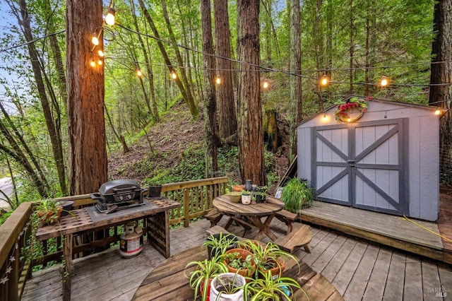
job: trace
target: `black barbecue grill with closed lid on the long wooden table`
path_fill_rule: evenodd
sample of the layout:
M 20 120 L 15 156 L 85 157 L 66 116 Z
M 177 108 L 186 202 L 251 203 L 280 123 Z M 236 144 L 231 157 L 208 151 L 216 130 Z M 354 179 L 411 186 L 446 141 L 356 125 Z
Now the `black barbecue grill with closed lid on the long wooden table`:
M 114 179 L 102 184 L 99 193 L 90 194 L 90 196 L 97 200 L 95 206 L 99 212 L 112 213 L 143 205 L 145 203 L 143 192 L 146 190 L 133 179 Z

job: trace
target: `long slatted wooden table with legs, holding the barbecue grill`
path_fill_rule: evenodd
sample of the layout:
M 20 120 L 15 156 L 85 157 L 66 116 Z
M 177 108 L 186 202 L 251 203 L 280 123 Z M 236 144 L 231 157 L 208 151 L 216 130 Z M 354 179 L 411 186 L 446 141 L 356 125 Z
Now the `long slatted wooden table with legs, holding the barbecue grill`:
M 170 256 L 169 210 L 181 205 L 165 197 L 145 198 L 144 201 L 143 206 L 126 208 L 109 214 L 99 213 L 94 206 L 73 210 L 71 214 L 61 217 L 59 223 L 37 229 L 37 240 L 64 236 L 63 255 L 68 275 L 64 281 L 64 300 L 69 300 L 71 296 L 73 235 L 95 232 L 146 218 L 148 241 L 166 258 Z

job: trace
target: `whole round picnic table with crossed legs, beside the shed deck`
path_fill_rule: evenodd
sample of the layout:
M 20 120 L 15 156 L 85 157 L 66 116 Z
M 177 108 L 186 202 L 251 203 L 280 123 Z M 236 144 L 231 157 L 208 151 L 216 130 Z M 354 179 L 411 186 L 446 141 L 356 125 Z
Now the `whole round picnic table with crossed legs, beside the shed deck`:
M 242 203 L 232 203 L 230 197 L 227 194 L 224 194 L 213 199 L 213 206 L 221 213 L 230 216 L 230 220 L 228 220 L 225 225 L 226 230 L 230 227 L 232 221 L 236 220 L 242 225 L 255 226 L 259 229 L 258 234 L 254 237 L 255 240 L 261 240 L 263 234 L 270 237 L 271 240 L 276 240 L 278 238 L 275 233 L 270 230 L 269 226 L 271 220 L 275 217 L 275 214 L 283 209 L 284 203 L 273 196 L 267 196 L 266 203 L 244 205 Z M 267 218 L 262 223 L 261 218 L 264 216 Z M 251 223 L 249 223 L 248 220 Z

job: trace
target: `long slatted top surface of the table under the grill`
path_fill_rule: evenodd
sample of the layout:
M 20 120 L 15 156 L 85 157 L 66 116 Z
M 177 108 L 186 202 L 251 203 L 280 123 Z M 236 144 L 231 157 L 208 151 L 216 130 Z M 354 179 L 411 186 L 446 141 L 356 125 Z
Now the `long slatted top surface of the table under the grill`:
M 58 223 L 52 225 L 45 225 L 36 231 L 37 240 L 47 240 L 52 237 L 59 237 L 60 235 L 73 234 L 85 230 L 93 230 L 105 226 L 114 226 L 121 223 L 126 223 L 131 220 L 150 216 L 154 213 L 167 211 L 172 208 L 180 207 L 181 204 L 172 199 L 167 199 L 164 196 L 156 198 L 144 198 L 147 206 L 132 207 L 130 209 L 119 210 L 114 213 L 101 213 L 106 218 L 93 221 L 93 218 L 88 214 L 87 208 L 81 208 L 71 211 L 67 216 L 62 216 Z

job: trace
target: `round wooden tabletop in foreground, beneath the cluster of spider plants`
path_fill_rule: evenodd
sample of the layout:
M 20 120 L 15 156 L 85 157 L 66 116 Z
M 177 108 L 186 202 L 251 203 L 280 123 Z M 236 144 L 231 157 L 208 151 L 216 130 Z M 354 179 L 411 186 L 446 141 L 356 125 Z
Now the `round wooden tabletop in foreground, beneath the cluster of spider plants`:
M 194 247 L 163 261 L 144 278 L 132 300 L 194 300 L 194 290 L 190 288 L 188 278 L 194 267 L 185 271 L 185 266 L 190 261 L 206 258 L 205 250 L 201 252 L 201 247 Z M 343 300 L 338 290 L 325 277 L 303 261 L 299 261 L 300 270 L 294 261 L 286 261 L 285 264 L 283 276 L 297 280 L 306 290 L 309 300 Z M 307 300 L 307 297 L 301 290 L 296 290 L 295 299 Z

